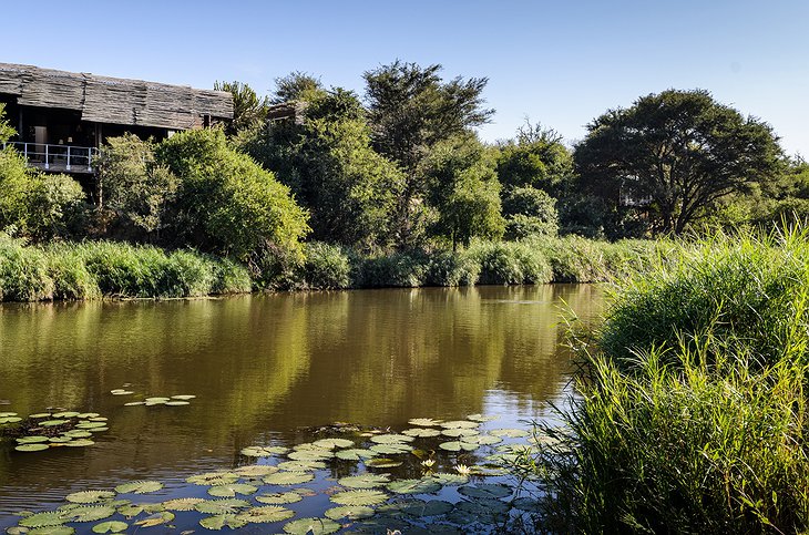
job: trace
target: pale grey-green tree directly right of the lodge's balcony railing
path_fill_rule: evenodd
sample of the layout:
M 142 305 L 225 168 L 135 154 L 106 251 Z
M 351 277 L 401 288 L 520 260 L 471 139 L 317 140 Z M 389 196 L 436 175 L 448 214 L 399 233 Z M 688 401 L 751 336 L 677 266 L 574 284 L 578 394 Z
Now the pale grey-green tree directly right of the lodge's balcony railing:
M 180 179 L 155 162 L 155 144 L 134 134 L 110 137 L 96 162 L 99 209 L 130 238 L 160 238 Z M 106 217 L 104 217 L 106 219 Z

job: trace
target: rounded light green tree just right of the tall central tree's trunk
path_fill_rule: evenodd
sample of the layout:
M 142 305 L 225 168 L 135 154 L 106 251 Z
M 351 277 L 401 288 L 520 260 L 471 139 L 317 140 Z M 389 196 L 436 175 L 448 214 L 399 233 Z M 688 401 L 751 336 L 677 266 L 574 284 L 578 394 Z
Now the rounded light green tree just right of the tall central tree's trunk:
M 436 210 L 432 230 L 449 239 L 452 250 L 473 237 L 503 235 L 500 183 L 494 163 L 473 135 L 438 144 L 426 163 L 429 206 Z

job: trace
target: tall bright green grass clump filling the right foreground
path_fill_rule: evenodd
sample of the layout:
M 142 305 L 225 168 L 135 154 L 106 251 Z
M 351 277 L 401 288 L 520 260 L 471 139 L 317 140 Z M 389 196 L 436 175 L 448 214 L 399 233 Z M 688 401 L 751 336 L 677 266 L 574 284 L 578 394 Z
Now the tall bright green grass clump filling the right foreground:
M 809 241 L 726 236 L 677 247 L 613 296 L 581 398 L 522 459 L 577 533 L 809 528 Z

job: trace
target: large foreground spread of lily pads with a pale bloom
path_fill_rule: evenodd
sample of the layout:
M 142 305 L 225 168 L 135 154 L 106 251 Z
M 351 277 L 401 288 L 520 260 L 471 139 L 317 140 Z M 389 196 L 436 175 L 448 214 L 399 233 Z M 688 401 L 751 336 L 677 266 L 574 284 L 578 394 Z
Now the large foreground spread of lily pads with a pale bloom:
M 94 533 L 190 527 L 190 521 L 206 529 L 277 523 L 287 534 L 498 531 L 539 511 L 536 488 L 506 484 L 503 465 L 540 444 L 525 430 L 481 430 L 488 420 L 413 419 L 398 433 L 350 428 L 293 447 L 249 446 L 240 453 L 257 464 L 187 477 L 187 497 L 156 502 L 163 484 L 151 481 L 76 492 L 55 511 L 25 514 L 9 533 L 70 535 L 68 524 L 99 521 Z M 300 486 L 306 484 L 319 491 Z M 306 500 L 319 494 L 331 506 Z M 134 495 L 151 496 L 136 503 Z M 295 518 L 314 511 L 318 516 Z

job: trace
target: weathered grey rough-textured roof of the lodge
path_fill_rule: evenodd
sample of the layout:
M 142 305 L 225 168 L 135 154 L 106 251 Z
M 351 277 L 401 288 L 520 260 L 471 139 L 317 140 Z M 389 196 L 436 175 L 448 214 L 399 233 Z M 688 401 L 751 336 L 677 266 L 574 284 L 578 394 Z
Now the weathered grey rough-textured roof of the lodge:
M 20 105 L 76 110 L 96 123 L 186 130 L 202 126 L 203 115 L 233 119 L 233 97 L 224 91 L 13 63 L 0 63 L 0 94 Z

